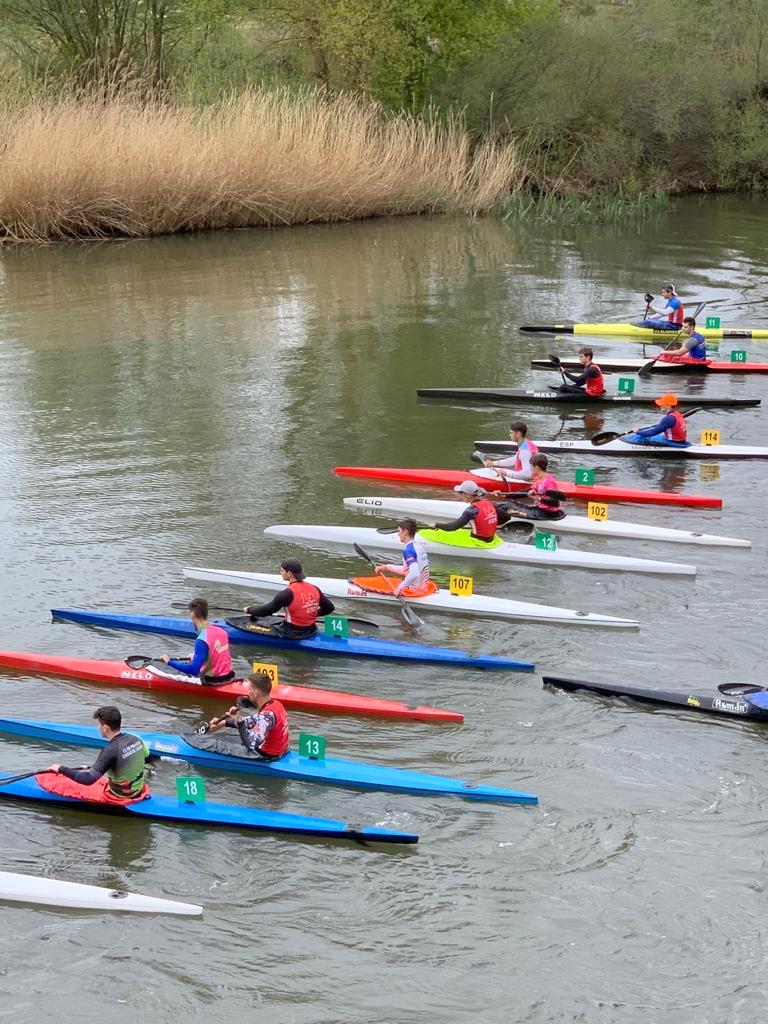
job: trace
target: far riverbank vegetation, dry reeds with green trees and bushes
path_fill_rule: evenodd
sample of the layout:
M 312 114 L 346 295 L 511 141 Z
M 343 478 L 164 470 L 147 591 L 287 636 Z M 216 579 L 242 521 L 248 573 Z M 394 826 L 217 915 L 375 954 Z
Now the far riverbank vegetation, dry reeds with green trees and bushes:
M 0 234 L 768 187 L 768 0 L 0 0 Z

